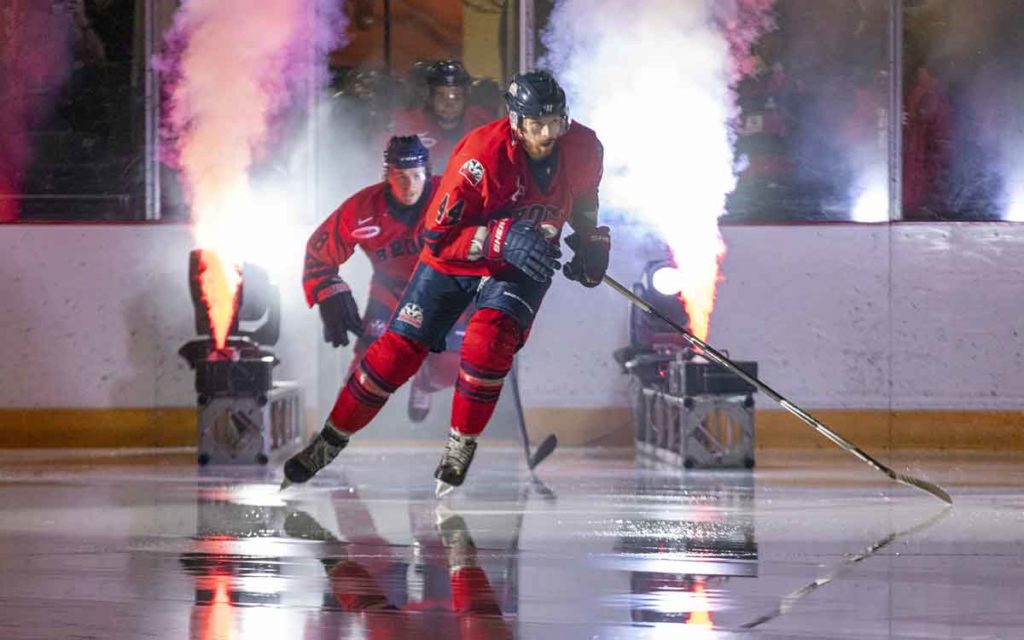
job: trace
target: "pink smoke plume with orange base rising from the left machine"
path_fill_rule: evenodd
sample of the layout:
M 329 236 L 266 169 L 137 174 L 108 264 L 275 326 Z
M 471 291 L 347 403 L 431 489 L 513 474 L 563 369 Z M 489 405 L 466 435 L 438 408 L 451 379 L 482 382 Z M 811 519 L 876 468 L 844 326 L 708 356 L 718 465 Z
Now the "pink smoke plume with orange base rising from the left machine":
M 247 215 L 250 168 L 282 121 L 323 86 L 327 54 L 344 38 L 338 0 L 186 0 L 175 14 L 158 61 L 164 159 L 181 171 L 197 245 L 226 264 L 239 261 L 241 239 L 258 224 Z M 234 299 L 237 278 L 222 280 L 226 289 L 204 291 L 205 299 Z

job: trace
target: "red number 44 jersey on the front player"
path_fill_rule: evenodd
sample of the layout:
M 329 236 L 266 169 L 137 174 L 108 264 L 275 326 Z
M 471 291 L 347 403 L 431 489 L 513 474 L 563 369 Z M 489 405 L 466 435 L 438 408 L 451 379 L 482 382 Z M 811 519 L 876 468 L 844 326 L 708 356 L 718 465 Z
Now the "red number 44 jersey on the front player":
M 476 227 L 525 217 L 560 233 L 578 205 L 597 206 L 604 152 L 592 130 L 573 122 L 558 139 L 547 190 L 536 183 L 520 146 L 507 118 L 463 138 L 427 208 L 424 262 L 442 273 L 486 275 L 493 265 L 467 259 Z

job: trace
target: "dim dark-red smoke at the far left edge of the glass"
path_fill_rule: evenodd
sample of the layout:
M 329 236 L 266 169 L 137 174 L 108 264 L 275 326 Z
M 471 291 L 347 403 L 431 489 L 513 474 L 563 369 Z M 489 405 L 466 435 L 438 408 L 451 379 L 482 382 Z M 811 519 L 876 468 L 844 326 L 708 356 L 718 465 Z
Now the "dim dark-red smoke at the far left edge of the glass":
M 0 222 L 17 219 L 29 134 L 49 115 L 71 62 L 71 15 L 38 0 L 0 7 Z

